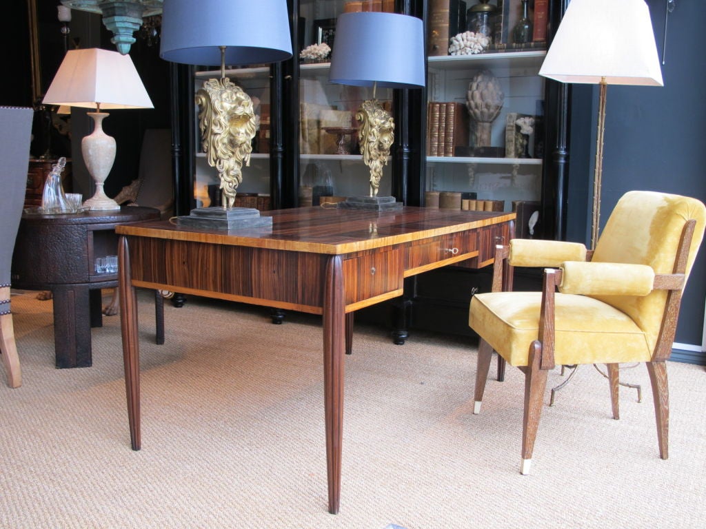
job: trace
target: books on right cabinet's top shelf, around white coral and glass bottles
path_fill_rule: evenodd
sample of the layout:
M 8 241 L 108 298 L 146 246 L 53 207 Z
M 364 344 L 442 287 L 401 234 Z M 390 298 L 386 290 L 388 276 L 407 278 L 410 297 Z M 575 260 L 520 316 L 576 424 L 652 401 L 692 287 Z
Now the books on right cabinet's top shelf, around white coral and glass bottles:
M 429 0 L 430 56 L 448 55 L 449 41 L 467 30 L 467 7 L 474 0 Z M 549 0 L 534 0 L 530 12 L 532 18 L 532 42 L 513 42 L 513 28 L 522 14 L 520 0 L 491 0 L 497 7 L 493 22 L 491 45 L 484 51 L 508 51 L 508 49 L 546 48 L 546 31 L 549 22 Z

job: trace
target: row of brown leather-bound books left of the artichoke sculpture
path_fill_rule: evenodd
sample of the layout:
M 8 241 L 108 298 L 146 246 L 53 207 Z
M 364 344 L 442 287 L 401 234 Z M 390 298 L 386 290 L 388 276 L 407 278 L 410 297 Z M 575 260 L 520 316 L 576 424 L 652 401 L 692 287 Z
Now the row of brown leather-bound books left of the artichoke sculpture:
M 469 115 L 463 103 L 429 102 L 426 123 L 428 156 L 453 156 L 456 147 L 469 143 Z

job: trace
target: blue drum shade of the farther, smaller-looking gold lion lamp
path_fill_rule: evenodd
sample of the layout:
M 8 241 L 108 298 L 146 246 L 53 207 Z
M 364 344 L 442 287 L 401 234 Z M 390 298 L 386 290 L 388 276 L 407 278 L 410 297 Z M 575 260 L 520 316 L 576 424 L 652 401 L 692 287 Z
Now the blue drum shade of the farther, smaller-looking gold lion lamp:
M 421 19 L 378 11 L 343 13 L 336 24 L 328 78 L 341 85 L 424 86 Z

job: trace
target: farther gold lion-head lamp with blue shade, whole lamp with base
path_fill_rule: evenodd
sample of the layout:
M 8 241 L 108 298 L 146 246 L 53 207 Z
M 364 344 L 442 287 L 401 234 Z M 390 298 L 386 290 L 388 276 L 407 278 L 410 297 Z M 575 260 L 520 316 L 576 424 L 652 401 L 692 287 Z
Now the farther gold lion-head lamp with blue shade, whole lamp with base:
M 363 162 L 370 168 L 370 195 L 348 197 L 338 207 L 388 211 L 401 209 L 395 197 L 378 197 L 383 167 L 395 140 L 395 123 L 375 97 L 376 88 L 424 86 L 424 31 L 421 19 L 397 13 L 343 13 L 336 24 L 331 83 L 373 87 L 356 119 Z

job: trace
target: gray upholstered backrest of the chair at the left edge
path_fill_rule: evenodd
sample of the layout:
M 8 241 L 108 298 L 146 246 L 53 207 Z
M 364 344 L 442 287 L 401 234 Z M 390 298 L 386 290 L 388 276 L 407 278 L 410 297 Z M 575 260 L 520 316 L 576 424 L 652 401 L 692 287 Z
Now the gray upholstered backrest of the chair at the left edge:
M 0 107 L 0 286 L 10 284 L 30 163 L 32 109 Z

